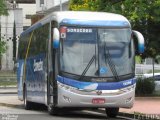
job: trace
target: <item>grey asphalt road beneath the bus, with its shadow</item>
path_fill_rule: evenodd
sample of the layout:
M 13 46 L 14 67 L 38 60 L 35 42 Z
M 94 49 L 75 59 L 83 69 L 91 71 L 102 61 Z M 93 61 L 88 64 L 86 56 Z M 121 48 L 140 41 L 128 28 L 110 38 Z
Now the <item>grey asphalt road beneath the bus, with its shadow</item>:
M 39 106 L 39 105 L 38 105 Z M 45 106 L 35 107 L 33 110 L 24 110 L 23 102 L 16 94 L 0 94 L 0 120 L 126 120 L 120 117 L 107 118 L 103 110 L 65 110 L 58 116 L 48 114 Z

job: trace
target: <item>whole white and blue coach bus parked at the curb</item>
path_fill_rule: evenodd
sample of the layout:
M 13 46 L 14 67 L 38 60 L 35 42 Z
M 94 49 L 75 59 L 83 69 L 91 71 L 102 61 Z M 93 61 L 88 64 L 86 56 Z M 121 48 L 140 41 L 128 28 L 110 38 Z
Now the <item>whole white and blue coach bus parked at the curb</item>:
M 135 54 L 143 52 L 142 34 L 122 15 L 53 12 L 20 36 L 18 97 L 25 109 L 105 108 L 115 117 L 133 106 Z

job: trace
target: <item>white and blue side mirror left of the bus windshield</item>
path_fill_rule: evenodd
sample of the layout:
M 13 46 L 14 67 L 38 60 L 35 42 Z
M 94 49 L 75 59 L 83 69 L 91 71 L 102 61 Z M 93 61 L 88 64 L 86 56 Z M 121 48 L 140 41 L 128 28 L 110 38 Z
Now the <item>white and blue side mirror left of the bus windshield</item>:
M 60 33 L 58 28 L 53 28 L 53 48 L 59 48 L 59 41 L 60 41 Z

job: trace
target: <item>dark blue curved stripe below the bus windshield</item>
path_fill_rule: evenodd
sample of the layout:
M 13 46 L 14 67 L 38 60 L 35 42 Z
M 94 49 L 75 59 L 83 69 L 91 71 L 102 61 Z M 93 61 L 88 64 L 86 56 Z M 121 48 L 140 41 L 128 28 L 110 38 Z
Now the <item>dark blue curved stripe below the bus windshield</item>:
M 92 89 L 92 90 L 116 90 L 125 88 L 130 85 L 134 85 L 136 83 L 136 79 L 129 79 L 120 82 L 81 82 L 70 78 L 65 78 L 62 76 L 58 76 L 57 80 L 60 83 L 78 88 L 78 89 Z

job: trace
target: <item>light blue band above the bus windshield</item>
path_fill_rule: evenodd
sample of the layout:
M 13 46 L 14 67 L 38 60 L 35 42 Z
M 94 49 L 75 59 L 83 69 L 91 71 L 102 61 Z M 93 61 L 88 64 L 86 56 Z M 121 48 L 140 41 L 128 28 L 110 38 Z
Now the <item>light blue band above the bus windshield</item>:
M 127 21 L 109 21 L 109 20 L 76 20 L 63 19 L 61 25 L 84 25 L 84 26 L 102 26 L 102 27 L 131 27 Z

